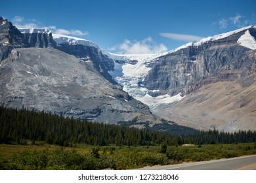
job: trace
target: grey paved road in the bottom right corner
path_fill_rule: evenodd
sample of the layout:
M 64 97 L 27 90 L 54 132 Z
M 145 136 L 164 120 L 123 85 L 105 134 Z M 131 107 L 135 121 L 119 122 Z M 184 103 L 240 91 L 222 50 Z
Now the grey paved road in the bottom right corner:
M 177 165 L 165 165 L 144 167 L 144 170 L 256 170 L 256 155 L 242 156 L 238 158 L 217 159 L 212 161 L 200 161 L 182 163 Z

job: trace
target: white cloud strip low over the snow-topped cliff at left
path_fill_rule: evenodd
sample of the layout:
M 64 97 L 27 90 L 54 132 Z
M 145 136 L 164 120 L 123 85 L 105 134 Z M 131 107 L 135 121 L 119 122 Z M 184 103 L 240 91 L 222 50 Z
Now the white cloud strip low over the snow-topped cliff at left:
M 35 28 L 36 27 L 36 28 L 49 29 L 52 31 L 52 33 L 56 33 L 60 35 L 85 36 L 89 34 L 89 32 L 87 31 L 80 31 L 78 29 L 60 29 L 55 25 L 43 26 L 40 22 L 38 22 L 35 19 L 26 20 L 22 16 L 14 16 L 14 18 L 12 18 L 12 24 L 18 28 L 32 28 L 32 27 Z

